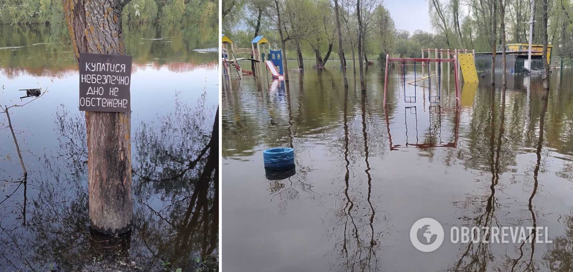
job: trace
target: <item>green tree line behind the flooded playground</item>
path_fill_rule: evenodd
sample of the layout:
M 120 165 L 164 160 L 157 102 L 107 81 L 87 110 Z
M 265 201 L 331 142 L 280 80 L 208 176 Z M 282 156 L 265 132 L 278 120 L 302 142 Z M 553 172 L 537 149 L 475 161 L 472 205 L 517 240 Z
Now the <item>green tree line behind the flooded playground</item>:
M 499 45 L 526 44 L 526 22 L 533 15 L 533 44 L 545 45 L 545 52 L 551 44 L 554 56 L 573 57 L 573 0 L 428 0 L 434 33 L 396 29 L 384 2 L 223 0 L 223 33 L 249 47 L 250 39 L 265 34 L 285 49 L 286 57 L 292 59 L 289 52 L 296 52 L 300 67 L 303 55 L 315 58 L 316 66 L 324 66 L 332 50 L 338 52 L 343 64 L 345 58 L 352 57 L 360 67 L 378 55 L 383 66 L 386 54 L 419 57 L 422 48 L 492 52 Z M 493 54 L 493 63 L 495 57 Z M 505 54 L 502 58 L 505 64 Z M 544 69 L 547 74 L 548 66 Z

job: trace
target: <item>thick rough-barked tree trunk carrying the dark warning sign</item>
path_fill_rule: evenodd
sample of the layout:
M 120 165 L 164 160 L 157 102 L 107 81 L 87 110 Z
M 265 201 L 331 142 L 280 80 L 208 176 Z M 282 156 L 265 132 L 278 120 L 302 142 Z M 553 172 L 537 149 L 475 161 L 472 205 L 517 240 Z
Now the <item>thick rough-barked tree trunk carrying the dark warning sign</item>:
M 119 0 L 63 0 L 76 60 L 80 53 L 125 54 Z M 131 112 L 85 112 L 89 219 L 119 234 L 131 227 Z M 105 129 L 103 129 L 105 128 Z

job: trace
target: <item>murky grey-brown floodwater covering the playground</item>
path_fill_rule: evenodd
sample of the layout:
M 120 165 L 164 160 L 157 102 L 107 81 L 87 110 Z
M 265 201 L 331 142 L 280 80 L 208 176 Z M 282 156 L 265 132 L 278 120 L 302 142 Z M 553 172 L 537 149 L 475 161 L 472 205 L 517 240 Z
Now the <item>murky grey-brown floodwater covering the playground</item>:
M 477 84 L 462 82 L 458 111 L 452 72 L 414 89 L 413 67 L 405 76 L 391 69 L 384 108 L 377 65 L 365 71 L 365 93 L 356 88 L 358 68 L 356 76 L 348 69 L 344 88 L 335 65 L 292 70 L 288 82 L 245 75 L 223 88 L 223 266 L 573 269 L 570 69 L 553 70 L 548 93 L 540 75 L 508 73 L 503 88 L 500 73 L 494 87 L 485 73 Z M 272 147 L 295 149 L 296 168 L 265 172 L 262 151 Z M 425 217 L 445 230 L 544 226 L 553 243 L 452 243 L 446 235 L 423 253 L 409 232 Z

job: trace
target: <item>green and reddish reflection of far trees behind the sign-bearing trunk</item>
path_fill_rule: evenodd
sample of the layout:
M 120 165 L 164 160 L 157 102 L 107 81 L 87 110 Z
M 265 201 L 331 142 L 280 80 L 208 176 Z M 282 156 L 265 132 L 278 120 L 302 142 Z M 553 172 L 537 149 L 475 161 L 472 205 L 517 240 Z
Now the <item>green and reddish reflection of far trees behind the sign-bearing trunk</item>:
M 165 66 L 172 72 L 188 72 L 216 68 L 217 54 L 194 51 L 216 48 L 216 32 L 208 24 L 193 27 L 148 24 L 127 25 L 123 35 L 127 54 L 134 56 L 134 70 Z M 0 70 L 9 78 L 21 74 L 62 78 L 76 73 L 77 63 L 68 34 L 55 39 L 50 35 L 50 27 L 45 25 L 0 27 Z

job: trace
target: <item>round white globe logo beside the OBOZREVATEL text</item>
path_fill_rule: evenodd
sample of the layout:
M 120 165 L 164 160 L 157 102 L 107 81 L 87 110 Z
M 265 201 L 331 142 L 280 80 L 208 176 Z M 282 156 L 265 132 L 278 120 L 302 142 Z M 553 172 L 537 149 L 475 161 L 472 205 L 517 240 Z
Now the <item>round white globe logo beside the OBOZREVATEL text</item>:
M 419 219 L 410 228 L 410 241 L 419 251 L 437 250 L 444 242 L 444 228 L 433 218 Z

